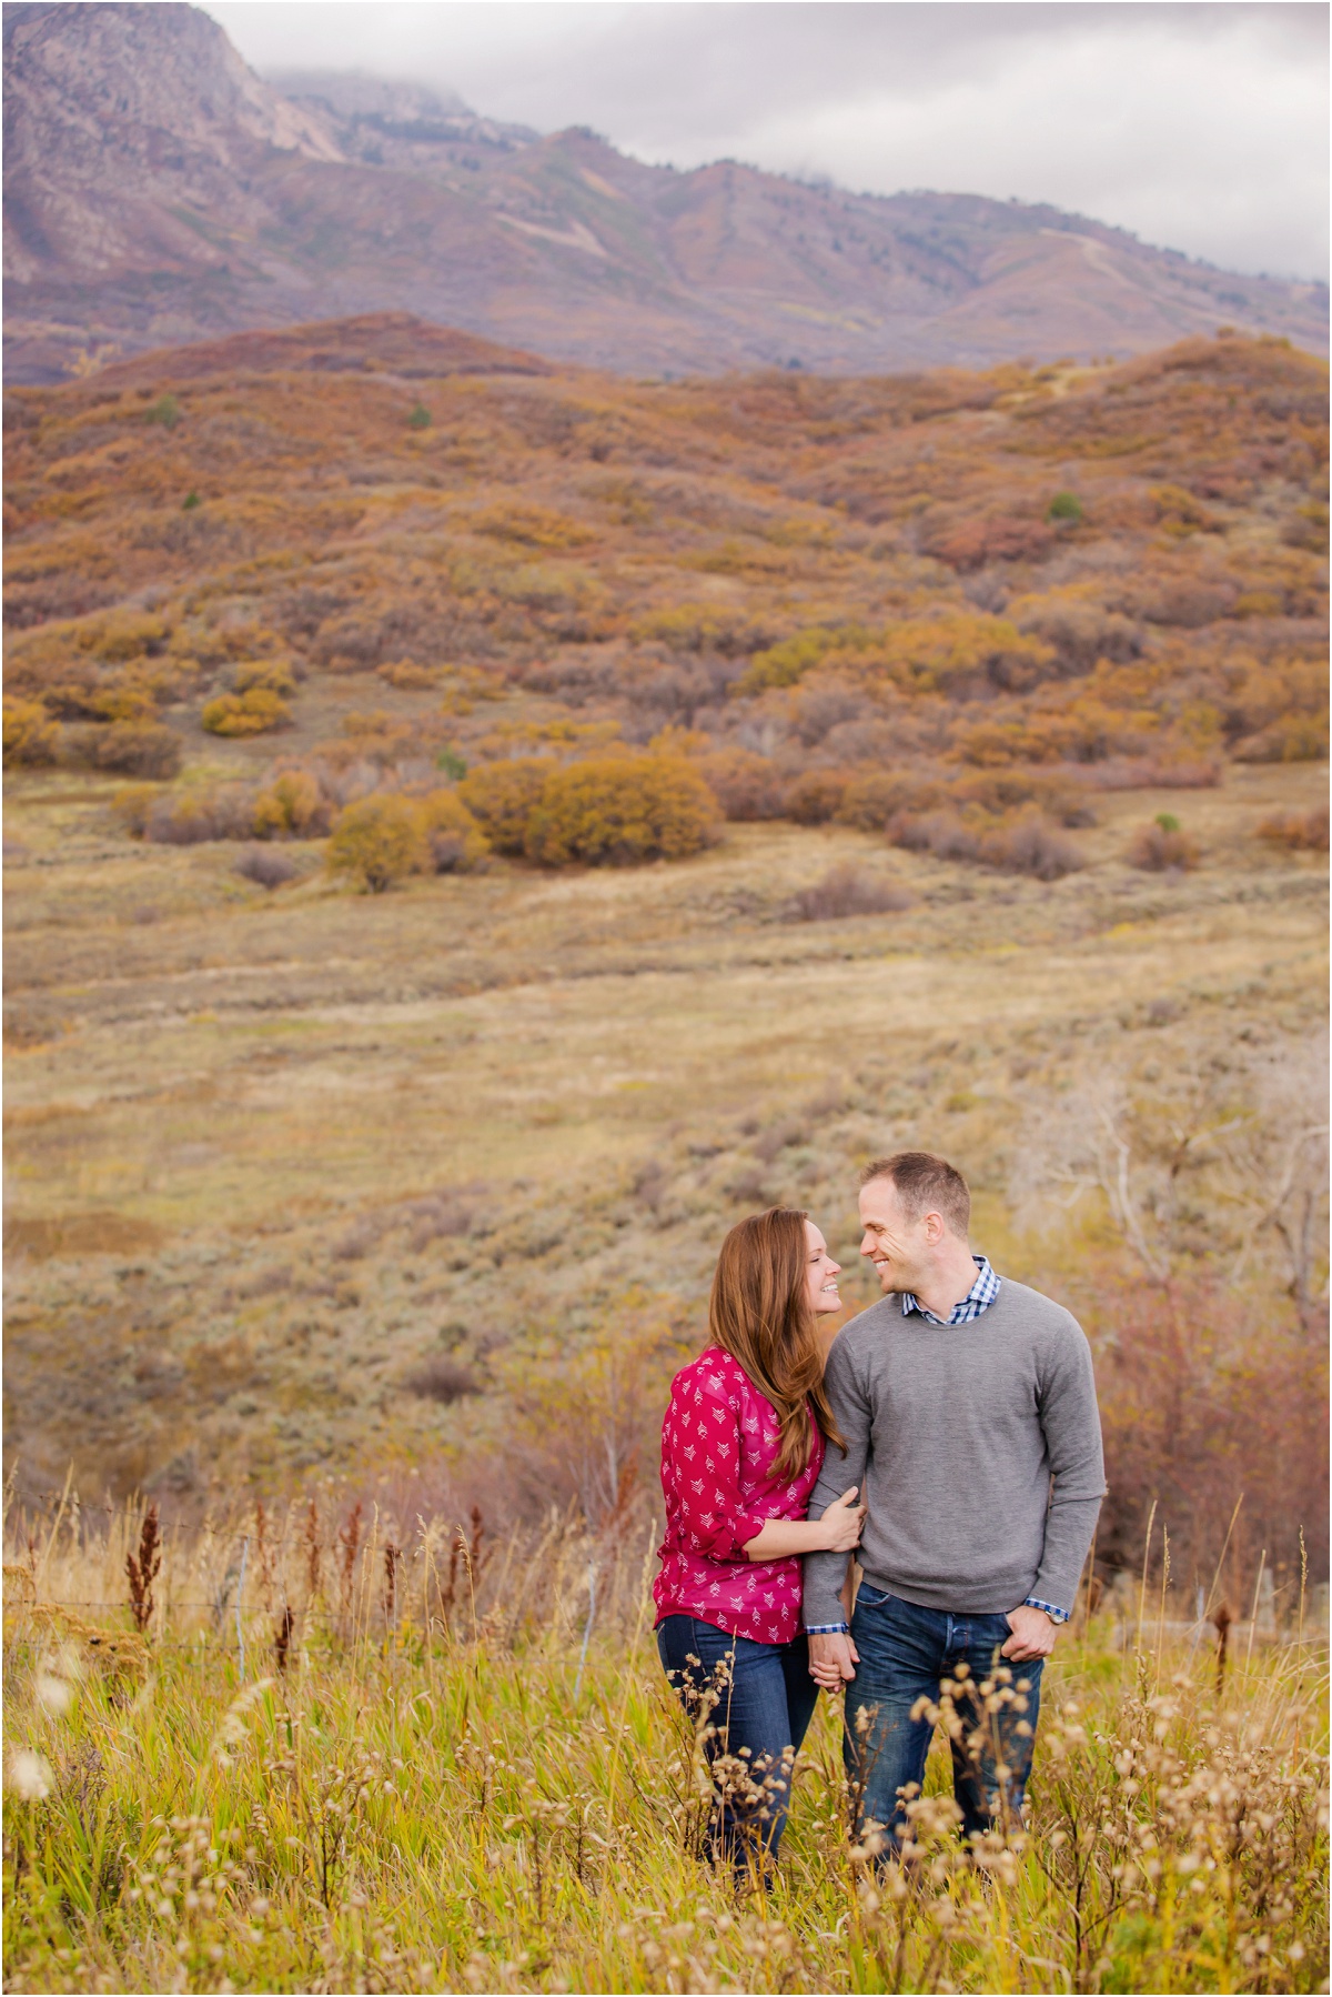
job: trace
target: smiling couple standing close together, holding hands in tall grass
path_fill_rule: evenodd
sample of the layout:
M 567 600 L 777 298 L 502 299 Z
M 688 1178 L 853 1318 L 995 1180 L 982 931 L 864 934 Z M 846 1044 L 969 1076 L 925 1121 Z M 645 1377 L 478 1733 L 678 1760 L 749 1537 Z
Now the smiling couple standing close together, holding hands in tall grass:
M 823 1234 L 783 1206 L 741 1220 L 709 1344 L 671 1384 L 657 1648 L 705 1723 L 713 1853 L 741 1873 L 777 1855 L 819 1687 L 847 1685 L 857 1829 L 889 1851 L 945 1679 L 965 1721 L 977 1707 L 953 1741 L 963 1831 L 1020 1815 L 1042 1664 L 1104 1494 L 1100 1422 L 1080 1326 L 973 1256 L 969 1222 L 943 1158 L 869 1164 L 861 1254 L 885 1296 L 825 1364 L 817 1320 L 841 1298 Z

